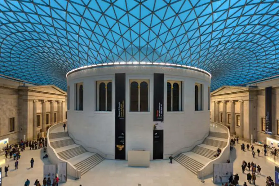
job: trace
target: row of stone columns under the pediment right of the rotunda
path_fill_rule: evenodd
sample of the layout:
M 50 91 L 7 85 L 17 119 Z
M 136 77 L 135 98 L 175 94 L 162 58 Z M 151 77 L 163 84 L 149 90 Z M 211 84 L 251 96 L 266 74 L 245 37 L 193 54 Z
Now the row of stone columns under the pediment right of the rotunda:
M 219 114 L 219 103 L 223 103 L 223 124 L 227 125 L 229 124 L 227 121 L 227 104 L 230 104 L 230 114 L 231 114 L 231 123 L 230 123 L 230 133 L 231 134 L 236 134 L 235 133 L 235 124 L 237 121 L 236 115 L 235 115 L 235 102 L 239 102 L 239 116 L 240 116 L 240 138 L 243 138 L 243 126 L 244 126 L 244 119 L 243 119 L 243 100 L 230 100 L 230 101 L 214 101 L 214 122 L 220 123 L 220 114 Z

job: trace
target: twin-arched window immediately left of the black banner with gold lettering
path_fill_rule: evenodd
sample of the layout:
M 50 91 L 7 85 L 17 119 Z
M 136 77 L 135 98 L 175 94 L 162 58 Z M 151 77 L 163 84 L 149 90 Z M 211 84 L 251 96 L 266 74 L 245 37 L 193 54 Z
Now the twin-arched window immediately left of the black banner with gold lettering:
M 112 109 L 112 82 L 111 80 L 96 82 L 96 110 L 111 111 Z

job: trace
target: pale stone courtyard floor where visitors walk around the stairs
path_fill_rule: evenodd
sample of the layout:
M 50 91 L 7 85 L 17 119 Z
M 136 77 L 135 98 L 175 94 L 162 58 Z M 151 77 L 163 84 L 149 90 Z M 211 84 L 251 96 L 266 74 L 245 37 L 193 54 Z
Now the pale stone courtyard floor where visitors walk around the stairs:
M 258 146 L 255 146 L 258 148 Z M 33 185 L 35 179 L 42 182 L 43 165 L 50 164 L 47 159 L 42 159 L 44 153 L 42 150 L 25 150 L 19 160 L 18 170 L 14 170 L 14 160 L 6 159 L 4 156 L 0 157 L 0 164 L 2 171 L 5 165 L 10 165 L 8 177 L 4 177 L 2 173 L 3 186 L 22 186 L 28 178 Z M 265 177 L 272 176 L 274 178 L 274 165 L 277 165 L 279 159 L 269 161 L 267 157 L 260 157 L 253 159 L 250 151 L 243 152 L 240 150 L 240 145 L 237 144 L 235 149 L 231 151 L 231 161 L 234 164 L 234 173 L 240 176 L 240 185 L 246 181 L 246 173 L 241 172 L 241 162 L 243 160 L 253 161 L 262 167 L 262 175 L 257 175 L 256 185 L 264 186 Z M 34 167 L 30 168 L 30 159 L 34 158 Z M 209 186 L 220 185 L 212 183 L 212 176 L 205 178 L 205 183 L 201 183 L 196 175 L 185 169 L 179 163 L 175 162 L 170 164 L 167 160 L 151 161 L 149 168 L 132 168 L 127 166 L 126 161 L 104 160 L 95 168 L 88 171 L 79 180 L 68 178 L 68 182 L 60 183 L 62 186 Z M 248 184 L 250 185 L 250 184 Z

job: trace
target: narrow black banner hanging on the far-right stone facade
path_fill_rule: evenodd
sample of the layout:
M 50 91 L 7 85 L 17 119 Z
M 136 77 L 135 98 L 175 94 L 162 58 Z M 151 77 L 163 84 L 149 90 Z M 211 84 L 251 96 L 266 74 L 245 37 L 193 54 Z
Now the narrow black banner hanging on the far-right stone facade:
M 265 88 L 265 133 L 272 134 L 272 86 Z

